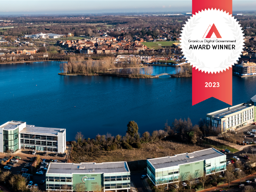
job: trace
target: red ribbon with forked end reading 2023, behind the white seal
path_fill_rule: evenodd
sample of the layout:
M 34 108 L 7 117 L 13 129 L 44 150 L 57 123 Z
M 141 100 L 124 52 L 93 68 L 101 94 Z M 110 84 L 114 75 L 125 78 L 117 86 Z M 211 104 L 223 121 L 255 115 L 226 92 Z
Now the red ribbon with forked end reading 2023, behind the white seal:
M 232 0 L 192 0 L 192 14 L 204 9 L 220 9 L 232 14 Z M 221 62 L 216 56 L 216 62 Z M 206 84 L 207 83 L 207 84 Z M 209 87 L 211 83 L 211 87 Z M 215 83 L 215 87 L 213 87 Z M 219 83 L 219 87 L 217 87 Z M 205 87 L 208 85 L 208 87 Z M 214 97 L 232 105 L 232 68 L 219 73 L 208 73 L 192 68 L 192 105 Z

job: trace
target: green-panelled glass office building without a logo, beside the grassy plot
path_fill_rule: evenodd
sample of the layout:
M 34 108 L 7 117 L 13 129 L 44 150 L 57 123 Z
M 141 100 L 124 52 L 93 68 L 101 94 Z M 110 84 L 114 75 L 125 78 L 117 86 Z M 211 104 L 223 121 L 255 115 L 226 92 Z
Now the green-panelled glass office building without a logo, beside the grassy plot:
M 214 148 L 147 160 L 147 175 L 155 186 L 225 170 L 226 155 Z

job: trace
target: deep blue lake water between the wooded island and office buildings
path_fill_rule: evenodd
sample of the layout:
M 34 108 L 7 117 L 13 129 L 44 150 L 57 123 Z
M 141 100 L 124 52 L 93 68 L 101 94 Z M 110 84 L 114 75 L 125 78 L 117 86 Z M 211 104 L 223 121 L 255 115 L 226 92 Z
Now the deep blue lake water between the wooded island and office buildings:
M 207 113 L 229 107 L 210 98 L 192 106 L 192 78 L 129 79 L 108 76 L 60 76 L 60 62 L 0 65 L 0 124 L 26 121 L 41 127 L 67 129 L 67 140 L 81 131 L 124 135 L 129 121 L 139 132 L 153 132 L 175 118 L 196 124 Z M 174 67 L 154 66 L 154 74 Z M 233 76 L 233 105 L 256 94 L 256 77 Z

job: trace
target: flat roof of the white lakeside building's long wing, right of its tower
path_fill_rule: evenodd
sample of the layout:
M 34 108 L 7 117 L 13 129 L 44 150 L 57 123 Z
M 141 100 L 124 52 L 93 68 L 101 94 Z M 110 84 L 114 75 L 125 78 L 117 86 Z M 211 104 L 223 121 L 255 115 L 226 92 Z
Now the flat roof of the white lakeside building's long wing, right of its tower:
M 58 132 L 63 132 L 65 129 L 50 128 L 50 127 L 35 127 L 35 125 L 26 125 L 26 127 L 20 131 L 20 133 L 38 133 L 38 134 L 54 134 L 58 135 Z

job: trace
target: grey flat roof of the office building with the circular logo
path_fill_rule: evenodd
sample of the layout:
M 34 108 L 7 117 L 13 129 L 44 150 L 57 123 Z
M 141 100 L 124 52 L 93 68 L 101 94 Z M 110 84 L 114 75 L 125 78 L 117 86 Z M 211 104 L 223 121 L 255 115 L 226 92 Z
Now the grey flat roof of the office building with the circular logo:
M 93 171 L 94 170 L 94 171 Z M 50 163 L 46 173 L 72 174 L 72 173 L 120 173 L 130 172 L 125 161 L 109 163 Z

